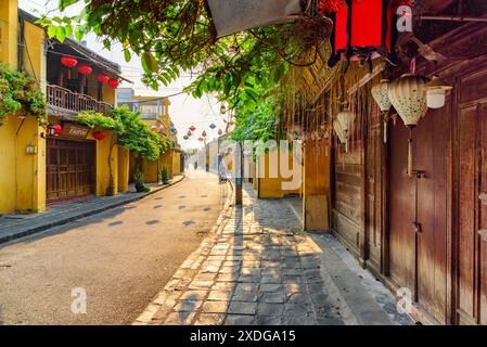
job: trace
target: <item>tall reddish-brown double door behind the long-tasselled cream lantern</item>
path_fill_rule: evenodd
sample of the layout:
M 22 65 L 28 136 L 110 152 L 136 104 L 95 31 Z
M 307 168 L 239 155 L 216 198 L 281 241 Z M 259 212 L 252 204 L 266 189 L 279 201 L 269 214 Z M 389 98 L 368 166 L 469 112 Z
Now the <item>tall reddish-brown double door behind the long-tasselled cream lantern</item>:
M 440 323 L 447 321 L 448 115 L 431 111 L 414 129 L 413 177 L 407 175 L 409 130 L 398 119 L 390 134 L 390 278 Z

